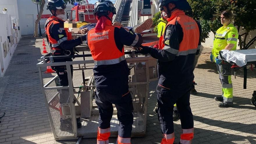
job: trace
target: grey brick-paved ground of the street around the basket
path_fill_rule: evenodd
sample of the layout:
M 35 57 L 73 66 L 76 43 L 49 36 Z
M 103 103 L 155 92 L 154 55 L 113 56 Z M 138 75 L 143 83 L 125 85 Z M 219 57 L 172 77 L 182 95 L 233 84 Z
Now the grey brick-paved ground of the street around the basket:
M 49 48 L 47 48 L 48 50 Z M 0 78 L 0 143 L 65 143 L 75 141 L 54 141 L 36 63 L 42 56 L 42 39 L 21 40 L 13 54 L 4 78 Z M 250 104 L 255 90 L 256 70 L 248 71 L 247 89 L 243 90 L 243 72 L 232 76 L 234 86 L 234 107 L 219 108 L 214 97 L 221 95 L 218 72 L 209 62 L 209 48 L 204 48 L 195 69 L 198 95 L 191 95 L 191 109 L 194 115 L 194 144 L 256 144 L 256 111 Z M 44 80 L 55 74 L 44 75 Z M 89 74 L 87 75 L 89 76 Z M 6 82 L 7 79 L 7 82 Z M 79 80 L 76 80 L 79 81 Z M 157 81 L 150 83 L 148 100 L 147 136 L 132 138 L 134 144 L 153 144 L 161 141 L 157 115 L 155 88 Z M 179 142 L 180 121 L 175 122 L 175 142 Z M 83 139 L 83 144 L 95 144 L 95 138 Z M 115 138 L 110 138 L 115 143 Z

